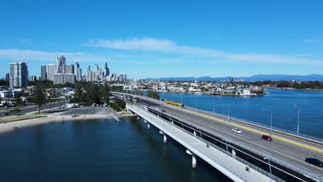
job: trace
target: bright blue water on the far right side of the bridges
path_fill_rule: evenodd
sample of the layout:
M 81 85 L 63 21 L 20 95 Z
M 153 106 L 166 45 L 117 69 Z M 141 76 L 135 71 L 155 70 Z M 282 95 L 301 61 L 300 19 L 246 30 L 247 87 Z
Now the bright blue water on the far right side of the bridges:
M 300 133 L 323 138 L 323 92 L 269 89 L 264 97 L 228 97 L 209 94 L 160 93 L 163 99 L 182 102 L 190 107 L 214 110 L 219 114 L 270 125 L 272 110 L 273 127 L 297 130 L 297 111 L 300 111 Z M 296 104 L 296 108 L 295 108 Z M 228 106 L 229 105 L 229 106 Z

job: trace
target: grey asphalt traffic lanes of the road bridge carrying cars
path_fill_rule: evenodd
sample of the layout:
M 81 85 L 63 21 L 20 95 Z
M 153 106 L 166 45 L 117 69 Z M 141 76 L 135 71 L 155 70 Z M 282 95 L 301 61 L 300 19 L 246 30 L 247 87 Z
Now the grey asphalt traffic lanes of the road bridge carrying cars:
M 261 139 L 260 135 L 246 132 L 244 130 L 242 130 L 242 134 L 236 134 L 232 132 L 232 127 L 230 125 L 224 125 L 213 119 L 200 117 L 194 112 L 184 112 L 183 110 L 178 110 L 164 105 L 159 105 L 158 108 L 159 110 L 165 110 L 166 114 L 169 114 L 171 117 L 175 117 L 182 121 L 188 121 L 189 123 L 195 123 L 195 125 L 202 125 L 204 128 L 211 130 L 212 132 L 223 134 L 223 136 L 231 141 L 239 141 L 249 148 L 257 149 L 262 152 L 264 156 L 274 156 L 277 159 L 312 172 L 317 176 L 323 175 L 322 168 L 318 168 L 317 166 L 304 161 L 308 156 L 315 157 L 323 161 L 323 156 L 320 154 L 313 154 L 309 151 L 295 148 L 293 145 L 286 145 L 286 143 L 275 141 L 275 139 L 273 141 L 266 141 Z

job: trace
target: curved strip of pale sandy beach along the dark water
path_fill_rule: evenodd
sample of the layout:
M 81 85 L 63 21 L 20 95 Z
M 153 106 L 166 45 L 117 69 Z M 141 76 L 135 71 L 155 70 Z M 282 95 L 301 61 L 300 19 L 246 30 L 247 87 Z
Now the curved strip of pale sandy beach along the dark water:
M 132 117 L 133 114 L 120 113 L 122 117 Z M 12 132 L 20 128 L 28 128 L 34 125 L 41 125 L 46 123 L 53 122 L 62 122 L 62 121 L 86 121 L 90 119 L 115 119 L 112 114 L 82 114 L 79 117 L 72 117 L 71 115 L 59 115 L 59 116 L 48 116 L 39 119 L 26 119 L 22 121 L 12 121 L 8 123 L 0 123 L 0 134 L 6 132 Z

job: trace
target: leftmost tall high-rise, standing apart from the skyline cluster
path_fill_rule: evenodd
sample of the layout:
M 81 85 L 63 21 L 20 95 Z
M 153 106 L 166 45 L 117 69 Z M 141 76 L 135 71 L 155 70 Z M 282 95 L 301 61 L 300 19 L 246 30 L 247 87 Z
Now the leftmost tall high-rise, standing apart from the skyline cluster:
M 10 87 L 28 85 L 28 66 L 25 62 L 10 63 Z

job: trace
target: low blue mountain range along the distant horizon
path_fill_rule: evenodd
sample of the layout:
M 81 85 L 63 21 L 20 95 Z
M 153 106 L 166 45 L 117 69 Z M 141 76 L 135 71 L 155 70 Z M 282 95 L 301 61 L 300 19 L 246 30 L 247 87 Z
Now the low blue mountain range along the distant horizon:
M 159 81 L 229 81 L 230 77 L 163 77 L 163 78 L 148 78 L 141 80 L 159 80 Z M 323 81 L 323 74 L 309 75 L 288 75 L 288 74 L 256 74 L 252 77 L 233 77 L 233 81 Z

